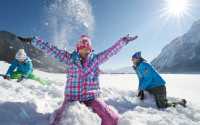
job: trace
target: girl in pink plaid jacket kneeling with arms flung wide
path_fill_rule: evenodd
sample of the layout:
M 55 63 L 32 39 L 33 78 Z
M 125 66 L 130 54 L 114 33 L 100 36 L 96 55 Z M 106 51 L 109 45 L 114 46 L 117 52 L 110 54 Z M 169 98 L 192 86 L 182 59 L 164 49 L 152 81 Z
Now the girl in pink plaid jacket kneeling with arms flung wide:
M 129 35 L 118 40 L 107 50 L 94 54 L 92 51 L 90 37 L 83 35 L 76 45 L 76 50 L 69 53 L 59 50 L 38 37 L 22 38 L 22 42 L 31 42 L 33 46 L 41 49 L 50 56 L 67 65 L 67 82 L 65 87 L 65 99 L 62 106 L 55 112 L 51 125 L 58 125 L 62 114 L 69 102 L 79 101 L 91 107 L 102 119 L 102 125 L 117 125 L 119 115 L 113 112 L 107 104 L 98 99 L 99 87 L 99 65 L 106 62 L 110 57 L 117 54 L 122 47 L 137 38 Z

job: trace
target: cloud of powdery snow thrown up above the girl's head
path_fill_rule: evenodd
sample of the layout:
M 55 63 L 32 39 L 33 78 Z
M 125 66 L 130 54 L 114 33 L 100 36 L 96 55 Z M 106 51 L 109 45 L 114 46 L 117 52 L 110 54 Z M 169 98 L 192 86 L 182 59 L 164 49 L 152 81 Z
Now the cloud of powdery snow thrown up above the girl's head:
M 72 36 L 91 34 L 94 30 L 95 18 L 93 16 L 90 0 L 48 0 L 45 1 L 43 15 L 44 29 L 48 31 L 54 45 L 64 49 L 72 49 L 75 41 Z M 73 43 L 75 44 L 75 43 Z

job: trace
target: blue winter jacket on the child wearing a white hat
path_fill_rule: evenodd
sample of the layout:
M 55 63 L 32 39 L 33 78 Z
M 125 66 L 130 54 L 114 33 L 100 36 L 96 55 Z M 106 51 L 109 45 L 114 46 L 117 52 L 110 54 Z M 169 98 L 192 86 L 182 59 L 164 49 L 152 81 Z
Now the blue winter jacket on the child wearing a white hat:
M 11 76 L 15 71 L 21 72 L 24 77 L 28 77 L 33 71 L 32 60 L 27 57 L 24 63 L 20 63 L 18 60 L 14 59 L 6 73 L 6 75 Z

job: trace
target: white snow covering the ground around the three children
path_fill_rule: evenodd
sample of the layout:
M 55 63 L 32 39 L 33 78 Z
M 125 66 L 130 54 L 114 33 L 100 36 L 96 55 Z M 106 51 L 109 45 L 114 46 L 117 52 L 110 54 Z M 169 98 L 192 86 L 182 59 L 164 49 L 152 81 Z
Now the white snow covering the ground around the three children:
M 5 73 L 8 64 L 0 62 L 0 73 Z M 26 80 L 17 83 L 0 78 L 0 125 L 48 125 L 63 101 L 65 74 L 34 71 L 47 78 L 50 85 Z M 158 110 L 151 95 L 146 99 L 136 98 L 137 77 L 128 75 L 101 75 L 101 99 L 120 114 L 119 125 L 199 125 L 200 124 L 200 75 L 163 74 L 167 81 L 170 100 L 185 98 L 188 107 Z M 61 125 L 100 125 L 100 118 L 85 105 L 73 102 L 65 110 Z

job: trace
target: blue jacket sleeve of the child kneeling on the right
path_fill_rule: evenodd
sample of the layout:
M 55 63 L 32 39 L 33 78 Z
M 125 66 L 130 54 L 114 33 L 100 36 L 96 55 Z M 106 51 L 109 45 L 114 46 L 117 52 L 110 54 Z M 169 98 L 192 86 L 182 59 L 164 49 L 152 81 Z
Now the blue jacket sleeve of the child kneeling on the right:
M 145 90 L 151 84 L 153 80 L 153 71 L 152 67 L 148 63 L 143 63 L 139 67 L 139 72 L 140 72 L 140 85 L 139 89 L 140 90 Z

